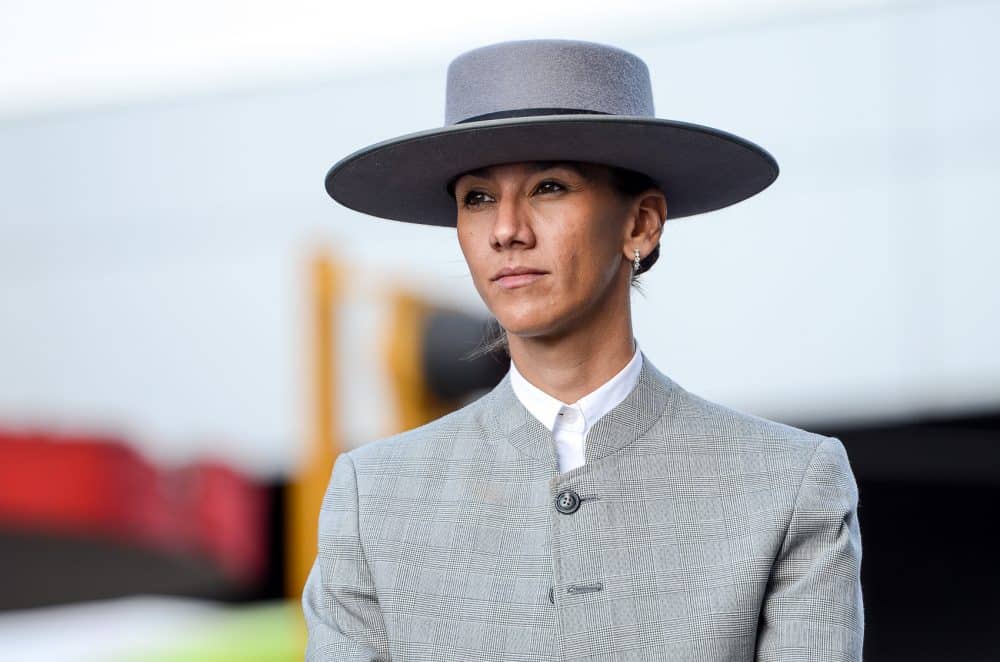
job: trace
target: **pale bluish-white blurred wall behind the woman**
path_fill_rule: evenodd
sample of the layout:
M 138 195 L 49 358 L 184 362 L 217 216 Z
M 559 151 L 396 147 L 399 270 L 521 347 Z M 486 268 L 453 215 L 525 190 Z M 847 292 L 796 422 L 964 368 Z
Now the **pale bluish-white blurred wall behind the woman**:
M 659 116 L 782 168 L 756 198 L 668 222 L 636 297 L 658 367 L 789 422 L 1000 403 L 998 24 L 998 2 L 912 3 L 601 38 L 647 61 Z M 0 121 L 0 423 L 290 466 L 315 244 L 364 287 L 481 309 L 453 231 L 357 215 L 322 186 L 348 152 L 441 123 L 451 55 Z

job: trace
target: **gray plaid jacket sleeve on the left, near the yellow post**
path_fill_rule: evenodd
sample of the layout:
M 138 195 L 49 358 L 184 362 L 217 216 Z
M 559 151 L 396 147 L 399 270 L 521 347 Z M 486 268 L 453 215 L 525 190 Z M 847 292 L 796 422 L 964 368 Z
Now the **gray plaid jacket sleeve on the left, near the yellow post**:
M 358 484 L 341 453 L 319 515 L 316 560 L 302 593 L 306 662 L 385 662 L 389 641 L 375 584 L 361 547 Z

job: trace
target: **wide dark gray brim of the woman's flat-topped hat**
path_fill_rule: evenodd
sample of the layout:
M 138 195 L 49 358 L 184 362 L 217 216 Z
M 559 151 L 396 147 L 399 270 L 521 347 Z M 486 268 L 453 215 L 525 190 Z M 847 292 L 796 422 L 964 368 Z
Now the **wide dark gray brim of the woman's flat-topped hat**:
M 667 217 L 692 216 L 745 200 L 778 176 L 760 146 L 698 124 L 621 115 L 539 115 L 411 133 L 338 161 L 326 191 L 356 211 L 408 223 L 452 226 L 447 185 L 484 166 L 522 161 L 586 161 L 651 177 Z

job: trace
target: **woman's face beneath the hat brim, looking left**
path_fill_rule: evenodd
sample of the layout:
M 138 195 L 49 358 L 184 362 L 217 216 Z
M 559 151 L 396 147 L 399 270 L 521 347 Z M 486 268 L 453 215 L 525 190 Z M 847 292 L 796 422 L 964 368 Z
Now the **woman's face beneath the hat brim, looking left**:
M 611 188 L 607 168 L 492 166 L 458 178 L 455 200 L 473 282 L 508 333 L 557 336 L 595 315 L 626 313 L 607 305 L 627 301 L 631 268 L 629 202 Z

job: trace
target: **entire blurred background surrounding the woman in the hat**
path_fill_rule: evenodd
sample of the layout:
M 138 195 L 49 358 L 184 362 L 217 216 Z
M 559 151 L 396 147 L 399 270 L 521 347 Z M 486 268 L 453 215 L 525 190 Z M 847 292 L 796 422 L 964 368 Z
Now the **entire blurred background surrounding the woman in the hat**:
M 354 5 L 0 0 L 0 657 L 301 659 L 336 453 L 507 369 L 454 230 L 323 176 L 557 37 L 782 168 L 667 223 L 643 351 L 843 440 L 866 660 L 1000 659 L 1000 2 Z

